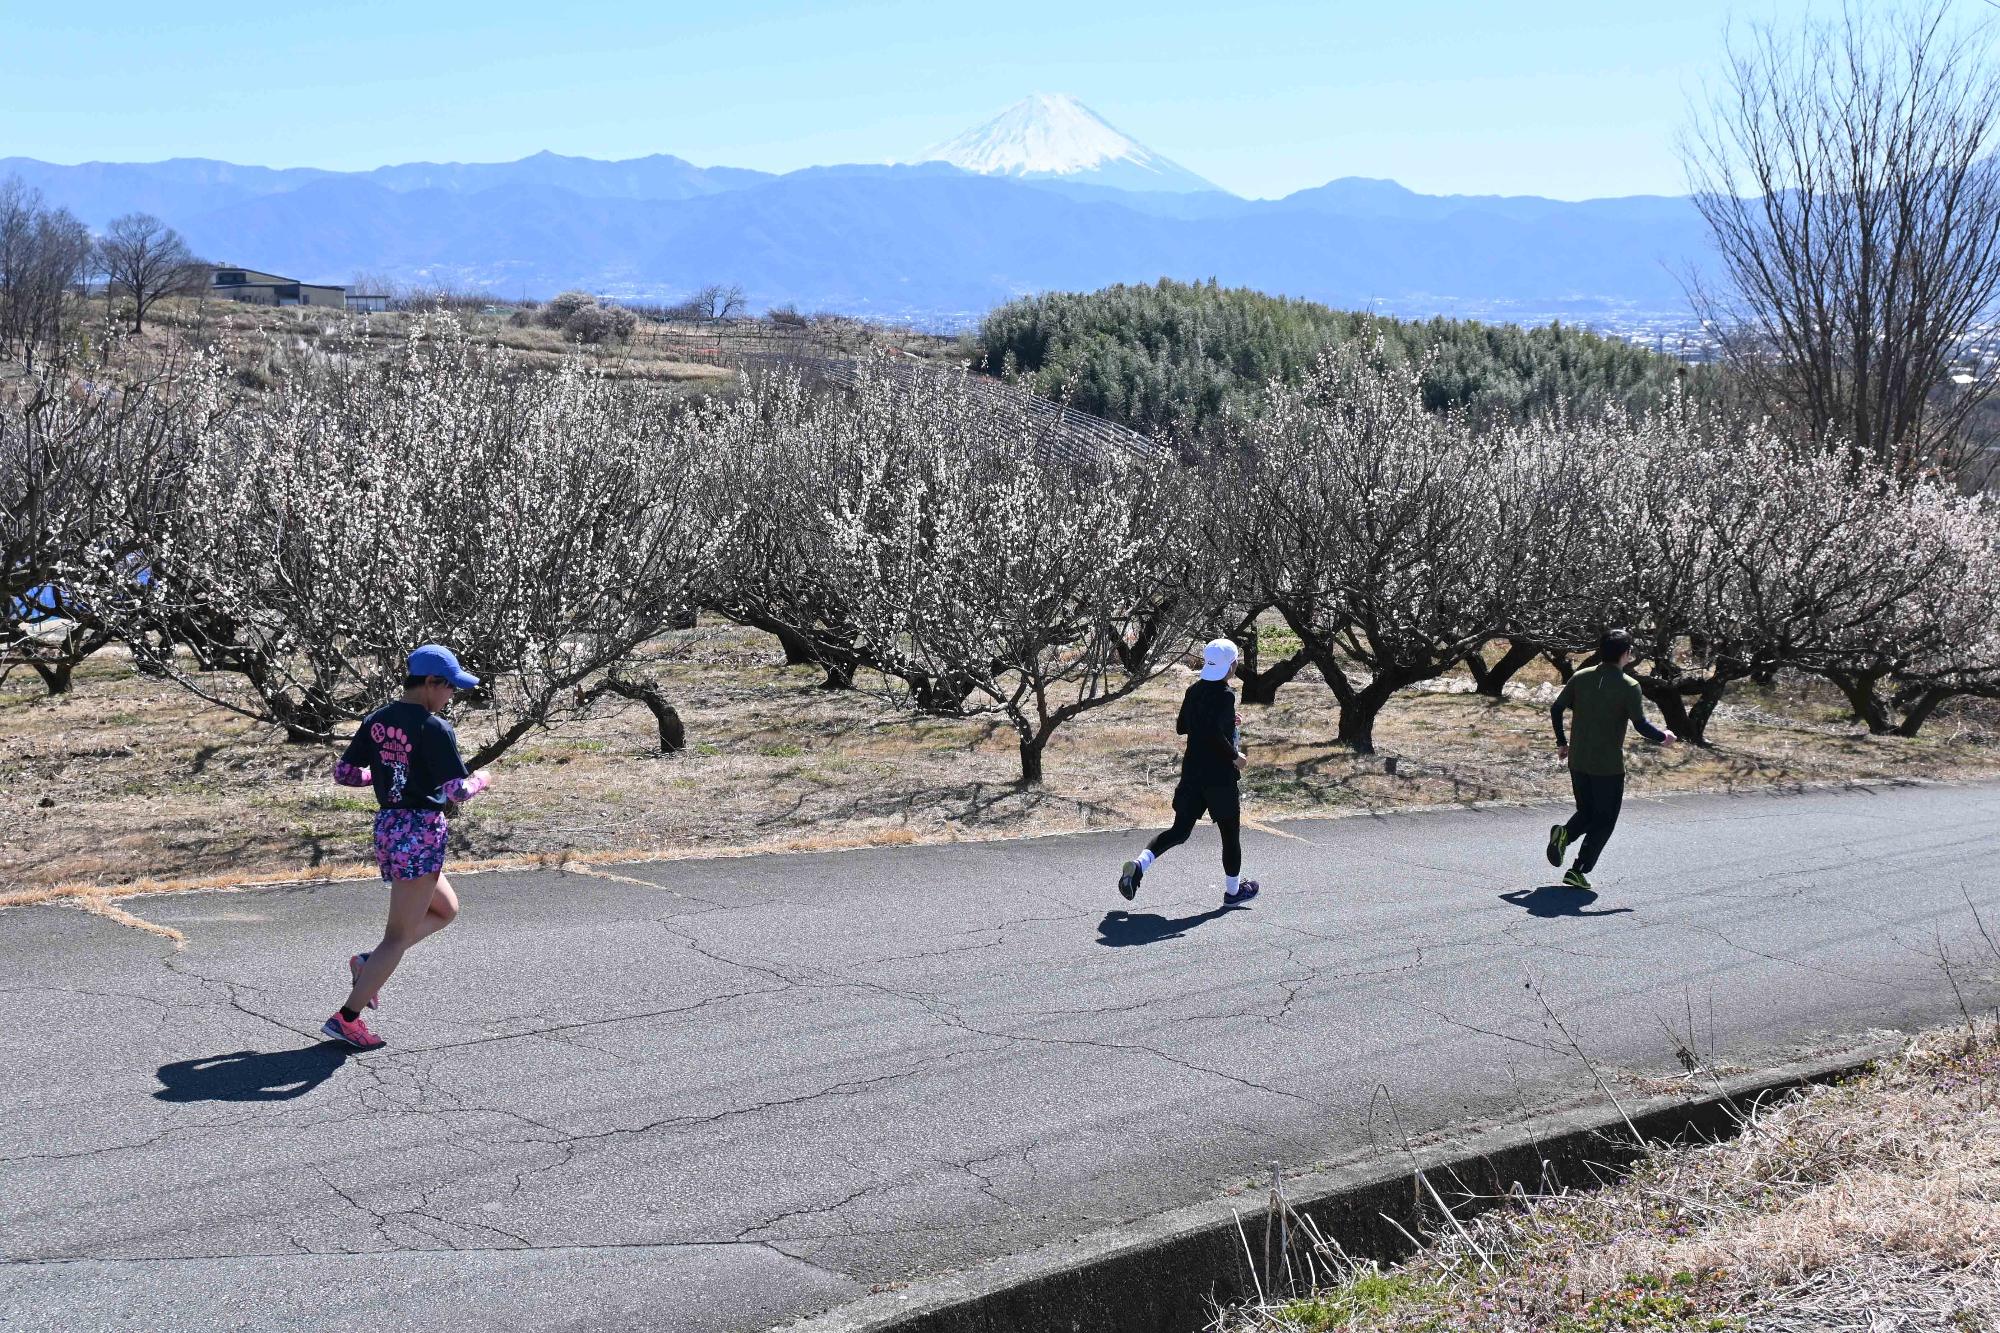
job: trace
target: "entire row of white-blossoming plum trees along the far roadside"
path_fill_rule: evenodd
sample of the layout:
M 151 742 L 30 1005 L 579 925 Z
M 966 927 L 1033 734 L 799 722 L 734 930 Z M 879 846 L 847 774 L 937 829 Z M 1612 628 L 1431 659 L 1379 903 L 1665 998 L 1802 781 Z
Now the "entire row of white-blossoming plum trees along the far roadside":
M 1990 500 L 1674 394 L 1438 412 L 1422 364 L 1350 344 L 1188 464 L 1078 450 L 956 372 L 780 372 L 688 404 L 522 368 L 446 316 L 266 394 L 210 362 L 96 392 L 0 402 L 10 590 L 60 586 L 142 664 L 300 741 L 342 735 L 436 638 L 490 681 L 490 759 L 696 604 L 828 685 L 1004 719 L 1028 783 L 1064 723 L 1198 638 L 1254 642 L 1258 612 L 1302 644 L 1262 699 L 1318 669 L 1358 751 L 1468 654 L 1506 644 L 1498 689 L 1606 624 L 1696 741 L 1778 671 L 1904 735 L 2000 695 Z M 30 532 L 12 496 L 68 516 Z

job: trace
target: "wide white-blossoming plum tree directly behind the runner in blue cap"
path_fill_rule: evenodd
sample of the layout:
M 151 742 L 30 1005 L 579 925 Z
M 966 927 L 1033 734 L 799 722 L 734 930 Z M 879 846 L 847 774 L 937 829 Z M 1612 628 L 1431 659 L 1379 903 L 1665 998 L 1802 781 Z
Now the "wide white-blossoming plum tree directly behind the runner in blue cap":
M 396 693 L 412 644 L 450 642 L 490 681 L 484 763 L 708 576 L 732 514 L 678 420 L 576 360 L 522 372 L 434 316 L 386 362 L 314 354 L 274 394 L 188 416 L 168 502 L 104 546 L 142 560 L 82 582 L 142 660 L 296 741 L 342 735 Z

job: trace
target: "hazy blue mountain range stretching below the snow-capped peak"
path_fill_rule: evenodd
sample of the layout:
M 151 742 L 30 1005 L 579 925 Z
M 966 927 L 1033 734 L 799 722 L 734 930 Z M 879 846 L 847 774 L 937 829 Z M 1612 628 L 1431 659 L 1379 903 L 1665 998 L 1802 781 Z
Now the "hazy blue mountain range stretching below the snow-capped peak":
M 1020 126 L 1010 132 L 1014 144 Z M 992 156 L 988 146 L 964 160 Z M 1168 184 L 1134 188 L 1146 174 L 1134 160 Z M 152 212 L 204 258 L 314 282 L 368 272 L 496 296 L 586 288 L 632 300 L 738 282 L 752 308 L 932 326 L 1026 292 L 1162 276 L 1406 316 L 1666 314 L 1686 308 L 1686 280 L 1708 254 L 1686 198 L 1434 196 L 1350 176 L 1244 200 L 1198 188 L 1138 144 L 1098 168 L 1048 172 L 1022 170 L 1018 156 L 1010 170 L 926 160 L 768 174 L 538 152 L 366 172 L 0 158 L 8 174 L 92 226 Z

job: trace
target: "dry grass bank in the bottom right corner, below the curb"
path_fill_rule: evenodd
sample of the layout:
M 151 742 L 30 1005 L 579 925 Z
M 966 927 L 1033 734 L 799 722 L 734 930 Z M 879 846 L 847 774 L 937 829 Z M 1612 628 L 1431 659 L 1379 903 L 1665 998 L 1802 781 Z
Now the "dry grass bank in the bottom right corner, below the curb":
M 1230 1333 L 2000 1329 L 2000 1025 L 1936 1033 L 1738 1139 L 1350 1267 Z

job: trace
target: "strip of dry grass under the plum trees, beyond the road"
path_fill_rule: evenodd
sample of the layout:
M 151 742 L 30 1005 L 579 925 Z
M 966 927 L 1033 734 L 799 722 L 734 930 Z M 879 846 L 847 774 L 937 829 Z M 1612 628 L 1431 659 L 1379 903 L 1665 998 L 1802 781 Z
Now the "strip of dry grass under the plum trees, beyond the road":
M 1274 644 L 1282 646 L 1282 644 Z M 654 671 L 690 749 L 652 751 L 642 709 L 604 711 L 530 737 L 452 831 L 454 867 L 824 851 L 1166 823 L 1178 769 L 1170 673 L 1056 735 L 1048 781 L 1022 789 L 1012 735 L 990 719 L 910 719 L 866 693 L 818 689 L 770 638 L 704 626 L 664 638 Z M 1462 683 L 1444 683 L 1446 687 Z M 1272 709 L 1246 709 L 1246 815 L 1384 811 L 1566 795 L 1548 745 L 1548 679 L 1490 703 L 1452 689 L 1394 703 L 1382 755 L 1334 745 L 1318 677 Z M 488 731 L 458 719 L 468 749 Z M 1714 751 L 1640 749 L 1634 793 L 1760 789 L 2000 771 L 1982 715 L 1940 719 L 1916 741 L 1868 739 L 1838 703 L 1784 685 L 1746 691 Z M 1386 757 L 1400 763 L 1386 773 Z M 26 673 L 0 681 L 0 907 L 24 895 L 156 891 L 372 875 L 368 793 L 334 787 L 332 753 L 136 675 L 118 654 L 48 699 Z

